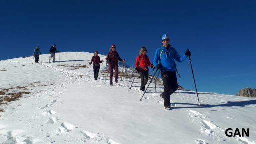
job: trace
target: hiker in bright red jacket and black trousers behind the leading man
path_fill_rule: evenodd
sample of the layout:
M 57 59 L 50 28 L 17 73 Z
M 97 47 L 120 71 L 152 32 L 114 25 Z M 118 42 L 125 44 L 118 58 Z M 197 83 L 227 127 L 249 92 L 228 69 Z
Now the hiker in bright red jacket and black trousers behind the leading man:
M 153 64 L 151 64 L 148 56 L 146 55 L 146 47 L 142 47 L 140 49 L 139 55 L 136 58 L 135 62 L 135 69 L 137 72 L 140 73 L 140 78 L 141 78 L 141 87 L 140 90 L 145 91 L 145 86 L 148 81 L 148 66 L 151 68 L 155 68 Z

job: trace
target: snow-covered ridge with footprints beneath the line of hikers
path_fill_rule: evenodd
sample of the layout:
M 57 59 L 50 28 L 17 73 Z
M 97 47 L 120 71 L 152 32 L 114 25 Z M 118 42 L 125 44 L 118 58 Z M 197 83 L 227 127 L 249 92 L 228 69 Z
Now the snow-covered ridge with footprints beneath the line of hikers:
M 256 98 L 200 92 L 198 106 L 194 91 L 178 90 L 165 111 L 163 86 L 155 92 L 150 85 L 140 102 L 140 79 L 129 89 L 134 75 L 128 66 L 122 86 L 110 87 L 102 71 L 94 81 L 92 66 L 89 81 L 92 56 L 64 52 L 55 63 L 47 63 L 49 54 L 37 64 L 33 57 L 0 61 L 0 100 L 22 95 L 1 101 L 0 143 L 255 143 Z M 249 128 L 250 134 L 227 137 L 227 128 Z

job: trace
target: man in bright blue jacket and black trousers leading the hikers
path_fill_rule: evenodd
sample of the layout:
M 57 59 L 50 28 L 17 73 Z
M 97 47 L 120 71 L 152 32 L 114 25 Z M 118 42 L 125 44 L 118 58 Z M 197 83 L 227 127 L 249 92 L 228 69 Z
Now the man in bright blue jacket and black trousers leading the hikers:
M 167 34 L 162 36 L 162 45 L 156 49 L 153 64 L 161 71 L 162 81 L 164 85 L 164 92 L 161 97 L 164 100 L 166 110 L 170 110 L 170 95 L 178 89 L 176 77 L 176 63 L 184 61 L 189 55 L 190 51 L 187 50 L 184 56 L 180 56 L 176 49 L 171 47 L 170 38 Z

